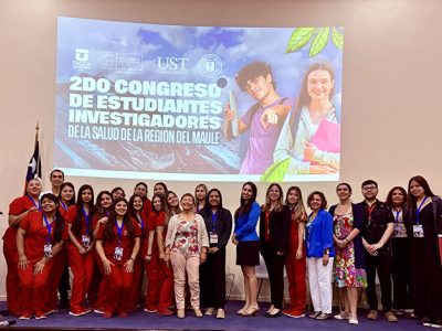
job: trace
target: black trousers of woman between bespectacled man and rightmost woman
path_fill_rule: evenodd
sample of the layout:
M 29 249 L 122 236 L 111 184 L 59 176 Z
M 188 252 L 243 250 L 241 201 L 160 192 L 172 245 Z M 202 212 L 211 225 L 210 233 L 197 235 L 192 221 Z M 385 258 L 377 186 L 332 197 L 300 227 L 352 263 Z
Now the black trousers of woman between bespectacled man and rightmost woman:
M 413 308 L 411 292 L 411 256 L 408 238 L 392 238 L 391 273 L 394 309 Z

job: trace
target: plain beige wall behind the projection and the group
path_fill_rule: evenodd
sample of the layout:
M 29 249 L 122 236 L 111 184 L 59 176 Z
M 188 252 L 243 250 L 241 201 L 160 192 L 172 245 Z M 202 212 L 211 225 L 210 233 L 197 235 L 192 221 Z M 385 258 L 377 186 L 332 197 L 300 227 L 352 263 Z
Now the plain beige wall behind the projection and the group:
M 344 118 L 341 180 L 355 188 L 367 178 L 389 188 L 407 185 L 413 174 L 428 178 L 442 193 L 440 105 L 442 87 L 442 1 L 439 0 L 1 0 L 0 1 L 0 232 L 7 227 L 9 202 L 23 189 L 33 149 L 34 127 L 41 126 L 44 177 L 53 159 L 56 17 L 146 23 L 240 26 L 343 25 Z M 70 179 L 96 190 L 135 181 Z M 151 183 L 150 183 L 151 184 Z M 193 182 L 171 182 L 177 193 L 193 191 Z M 323 190 L 336 202 L 336 183 L 302 183 L 305 193 Z M 48 188 L 45 179 L 44 186 Z M 209 183 L 209 186 L 212 186 Z M 239 204 L 240 183 L 217 183 L 225 204 Z M 284 185 L 286 189 L 288 184 Z M 263 201 L 264 185 L 260 185 Z M 234 266 L 234 250 L 229 267 Z M 4 293 L 0 261 L 0 295 Z M 240 293 L 236 277 L 235 293 Z

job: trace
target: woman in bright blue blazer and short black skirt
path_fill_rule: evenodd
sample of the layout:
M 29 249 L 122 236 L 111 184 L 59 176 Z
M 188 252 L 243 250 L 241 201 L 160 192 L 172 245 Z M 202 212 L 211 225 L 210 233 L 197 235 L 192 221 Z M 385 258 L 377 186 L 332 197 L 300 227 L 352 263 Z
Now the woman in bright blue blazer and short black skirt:
M 261 207 L 256 203 L 257 188 L 252 182 L 246 182 L 241 190 L 241 205 L 234 214 L 234 229 L 232 243 L 236 245 L 236 265 L 241 266 L 244 277 L 244 306 L 238 314 L 255 316 L 260 310 L 257 306 L 257 279 L 255 266 L 260 265 L 260 237 L 256 224 L 260 218 Z

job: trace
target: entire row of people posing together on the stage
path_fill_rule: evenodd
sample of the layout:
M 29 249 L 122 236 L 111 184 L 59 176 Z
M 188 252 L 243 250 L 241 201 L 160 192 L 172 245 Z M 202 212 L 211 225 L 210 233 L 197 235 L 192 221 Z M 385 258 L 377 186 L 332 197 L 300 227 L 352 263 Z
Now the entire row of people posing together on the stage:
M 140 182 L 127 201 L 122 188 L 102 191 L 94 200 L 87 184 L 75 199 L 74 185 L 63 181 L 64 174 L 54 170 L 53 192 L 41 194 L 41 182 L 31 180 L 27 193 L 10 204 L 3 237 L 8 309 L 21 319 L 42 319 L 56 311 L 57 287 L 67 266 L 73 274 L 71 316 L 94 310 L 104 318 L 126 317 L 141 300 L 146 275 L 146 312 L 168 316 L 175 307 L 177 317 L 185 318 L 190 305 L 196 317 L 204 309 L 204 314 L 222 319 L 225 246 L 231 241 L 244 276 L 240 316 L 260 310 L 255 266 L 261 254 L 271 287 L 269 318 L 304 317 L 308 284 L 314 308 L 309 317 L 328 319 L 335 282 L 343 301 L 336 319 L 357 324 L 358 301 L 366 289 L 367 318 L 376 320 L 378 275 L 388 321 L 413 309 L 425 325 L 441 325 L 442 201 L 422 177 L 410 179 L 408 192 L 391 189 L 386 202 L 377 199 L 372 180 L 361 184 L 365 200 L 358 204 L 350 200 L 351 186 L 340 183 L 339 203 L 328 210 L 324 193 L 314 191 L 306 200 L 309 213 L 298 186 L 291 186 L 284 200 L 281 185 L 271 184 L 260 206 L 256 185 L 246 182 L 233 217 L 220 190 L 204 184 L 179 199 L 165 183 L 157 183 L 150 201 Z M 286 309 L 284 268 L 291 299 Z M 63 299 L 67 296 L 62 291 Z

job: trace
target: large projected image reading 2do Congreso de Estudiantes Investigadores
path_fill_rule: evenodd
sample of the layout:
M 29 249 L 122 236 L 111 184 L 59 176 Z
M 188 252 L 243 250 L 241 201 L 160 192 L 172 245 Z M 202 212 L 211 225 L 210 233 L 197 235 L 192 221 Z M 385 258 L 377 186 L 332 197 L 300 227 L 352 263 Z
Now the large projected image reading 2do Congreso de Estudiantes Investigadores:
M 338 180 L 343 28 L 59 18 L 57 33 L 66 174 Z

